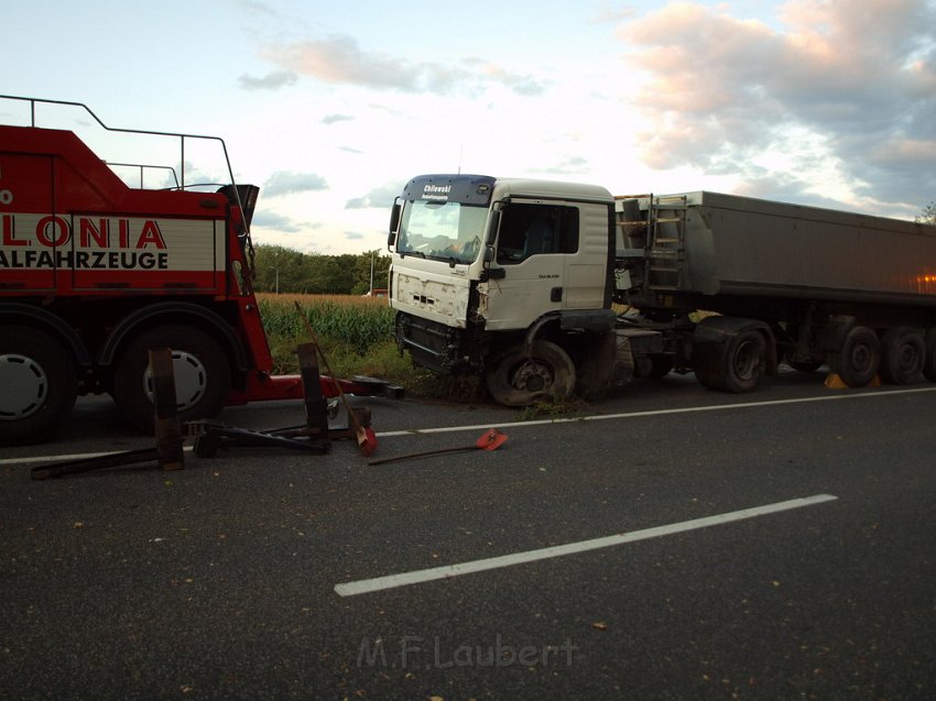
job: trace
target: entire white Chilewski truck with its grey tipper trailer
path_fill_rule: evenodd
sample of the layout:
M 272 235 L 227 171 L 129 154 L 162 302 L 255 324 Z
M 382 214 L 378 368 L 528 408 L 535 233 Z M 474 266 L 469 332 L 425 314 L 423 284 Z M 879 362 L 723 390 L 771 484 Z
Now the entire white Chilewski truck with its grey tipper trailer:
M 523 406 L 783 361 L 936 381 L 936 227 L 709 191 L 422 175 L 392 207 L 389 298 L 416 364 Z

